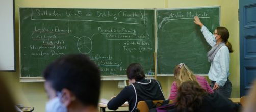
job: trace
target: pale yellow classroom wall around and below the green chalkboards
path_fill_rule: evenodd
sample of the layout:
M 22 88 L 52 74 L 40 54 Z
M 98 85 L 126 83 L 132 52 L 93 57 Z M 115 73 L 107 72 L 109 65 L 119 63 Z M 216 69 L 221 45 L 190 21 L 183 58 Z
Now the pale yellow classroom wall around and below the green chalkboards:
M 19 29 L 18 29 L 18 8 L 19 7 L 60 7 L 60 8 L 186 8 L 200 6 L 221 6 L 221 25 L 227 27 L 231 34 L 229 41 L 235 50 L 231 54 L 231 76 L 233 83 L 232 97 L 240 97 L 239 92 L 239 22 L 238 22 L 238 0 L 108 0 L 108 1 L 67 1 L 67 0 L 15 0 L 15 33 L 16 33 L 16 72 L 4 72 L 2 77 L 8 83 L 8 86 L 16 99 L 17 104 L 25 106 L 34 106 L 35 111 L 45 111 L 47 95 L 45 94 L 42 82 L 19 82 Z M 158 77 L 162 83 L 166 98 L 169 95 L 173 76 Z M 118 81 L 103 81 L 101 88 L 101 98 L 110 99 L 117 95 L 122 88 L 117 88 Z

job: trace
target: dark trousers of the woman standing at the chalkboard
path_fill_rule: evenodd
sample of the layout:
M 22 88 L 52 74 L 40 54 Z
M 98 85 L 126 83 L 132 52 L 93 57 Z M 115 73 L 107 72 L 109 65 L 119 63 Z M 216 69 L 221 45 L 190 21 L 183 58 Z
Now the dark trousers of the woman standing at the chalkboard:
M 211 88 L 214 87 L 215 81 L 211 81 L 212 85 Z M 217 92 L 227 98 L 230 98 L 231 96 L 231 90 L 232 90 L 232 83 L 230 82 L 230 80 L 227 78 L 226 83 L 224 86 L 219 86 L 219 88 L 217 90 L 214 90 L 214 92 Z

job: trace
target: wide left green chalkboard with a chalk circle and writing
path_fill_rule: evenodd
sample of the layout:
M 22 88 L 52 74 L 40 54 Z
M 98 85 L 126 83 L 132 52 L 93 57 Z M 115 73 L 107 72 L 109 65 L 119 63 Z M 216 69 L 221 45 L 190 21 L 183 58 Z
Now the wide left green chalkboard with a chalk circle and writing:
M 89 55 L 101 75 L 125 75 L 139 62 L 154 72 L 154 10 L 20 8 L 20 77 L 42 77 L 65 54 Z

